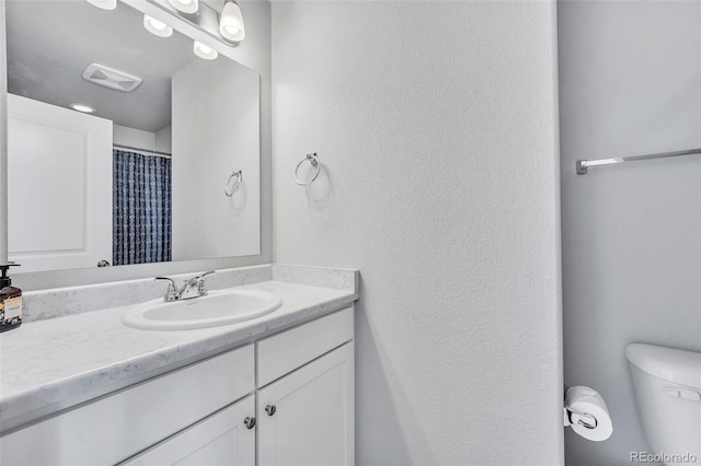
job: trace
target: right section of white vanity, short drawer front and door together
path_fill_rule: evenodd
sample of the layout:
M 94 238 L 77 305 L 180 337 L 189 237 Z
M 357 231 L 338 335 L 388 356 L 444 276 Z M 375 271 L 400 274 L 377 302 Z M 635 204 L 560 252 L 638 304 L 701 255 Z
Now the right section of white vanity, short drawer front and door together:
M 355 464 L 352 308 L 261 340 L 256 351 L 257 464 Z

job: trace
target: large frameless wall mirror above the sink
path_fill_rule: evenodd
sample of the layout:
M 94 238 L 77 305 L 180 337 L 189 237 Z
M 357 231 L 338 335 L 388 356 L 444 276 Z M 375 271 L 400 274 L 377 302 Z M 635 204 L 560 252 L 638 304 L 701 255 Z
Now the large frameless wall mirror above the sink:
M 255 71 L 122 1 L 5 20 L 18 272 L 260 254 Z

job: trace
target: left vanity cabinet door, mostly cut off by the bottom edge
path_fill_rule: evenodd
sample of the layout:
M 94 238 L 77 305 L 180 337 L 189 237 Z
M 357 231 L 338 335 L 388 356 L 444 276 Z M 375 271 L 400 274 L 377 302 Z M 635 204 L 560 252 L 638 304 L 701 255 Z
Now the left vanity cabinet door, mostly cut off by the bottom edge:
M 239 466 L 255 464 L 253 396 L 214 413 L 183 432 L 122 463 L 123 466 Z

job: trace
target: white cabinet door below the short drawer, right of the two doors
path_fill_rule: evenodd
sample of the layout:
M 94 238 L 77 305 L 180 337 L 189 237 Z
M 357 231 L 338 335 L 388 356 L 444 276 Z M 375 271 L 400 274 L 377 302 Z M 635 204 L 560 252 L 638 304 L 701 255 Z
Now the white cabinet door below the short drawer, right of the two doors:
M 355 463 L 353 351 L 350 341 L 258 392 L 260 466 Z

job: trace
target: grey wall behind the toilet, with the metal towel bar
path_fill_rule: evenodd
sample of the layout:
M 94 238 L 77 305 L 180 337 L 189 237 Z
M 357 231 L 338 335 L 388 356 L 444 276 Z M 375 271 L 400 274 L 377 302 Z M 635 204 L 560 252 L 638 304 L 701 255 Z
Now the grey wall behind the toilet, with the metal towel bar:
M 701 159 L 574 164 L 701 147 L 701 3 L 564 1 L 559 25 L 565 382 L 613 418 L 602 443 L 566 432 L 566 461 L 629 465 L 625 346 L 701 350 Z

